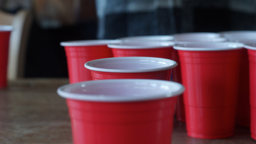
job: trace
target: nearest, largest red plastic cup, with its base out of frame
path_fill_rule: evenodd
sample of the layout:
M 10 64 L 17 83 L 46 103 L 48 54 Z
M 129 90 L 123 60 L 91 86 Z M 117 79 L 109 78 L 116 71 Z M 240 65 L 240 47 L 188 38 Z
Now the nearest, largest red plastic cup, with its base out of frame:
M 176 96 L 184 87 L 149 79 L 86 81 L 58 88 L 74 144 L 171 143 Z

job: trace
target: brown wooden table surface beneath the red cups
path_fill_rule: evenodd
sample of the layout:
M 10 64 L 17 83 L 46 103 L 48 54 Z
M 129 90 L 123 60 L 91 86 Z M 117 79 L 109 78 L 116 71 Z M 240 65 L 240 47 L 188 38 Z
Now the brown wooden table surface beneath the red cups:
M 65 99 L 56 90 L 66 78 L 21 79 L 0 90 L 0 144 L 71 144 Z M 216 140 L 187 136 L 186 125 L 174 120 L 172 144 L 256 144 L 250 129 L 236 126 L 232 137 Z

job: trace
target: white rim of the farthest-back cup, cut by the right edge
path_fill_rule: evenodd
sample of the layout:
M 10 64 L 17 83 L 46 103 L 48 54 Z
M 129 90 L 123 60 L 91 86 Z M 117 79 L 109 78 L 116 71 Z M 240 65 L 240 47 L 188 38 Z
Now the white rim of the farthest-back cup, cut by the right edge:
M 225 38 L 254 38 L 256 36 L 256 31 L 252 30 L 234 30 L 234 31 L 223 31 L 219 32 L 221 37 Z

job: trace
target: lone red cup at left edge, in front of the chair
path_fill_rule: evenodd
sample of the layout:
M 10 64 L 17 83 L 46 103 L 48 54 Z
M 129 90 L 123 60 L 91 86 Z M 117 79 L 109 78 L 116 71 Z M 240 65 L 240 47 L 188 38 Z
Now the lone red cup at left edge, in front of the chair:
M 7 87 L 9 42 L 13 26 L 0 25 L 0 88 Z

